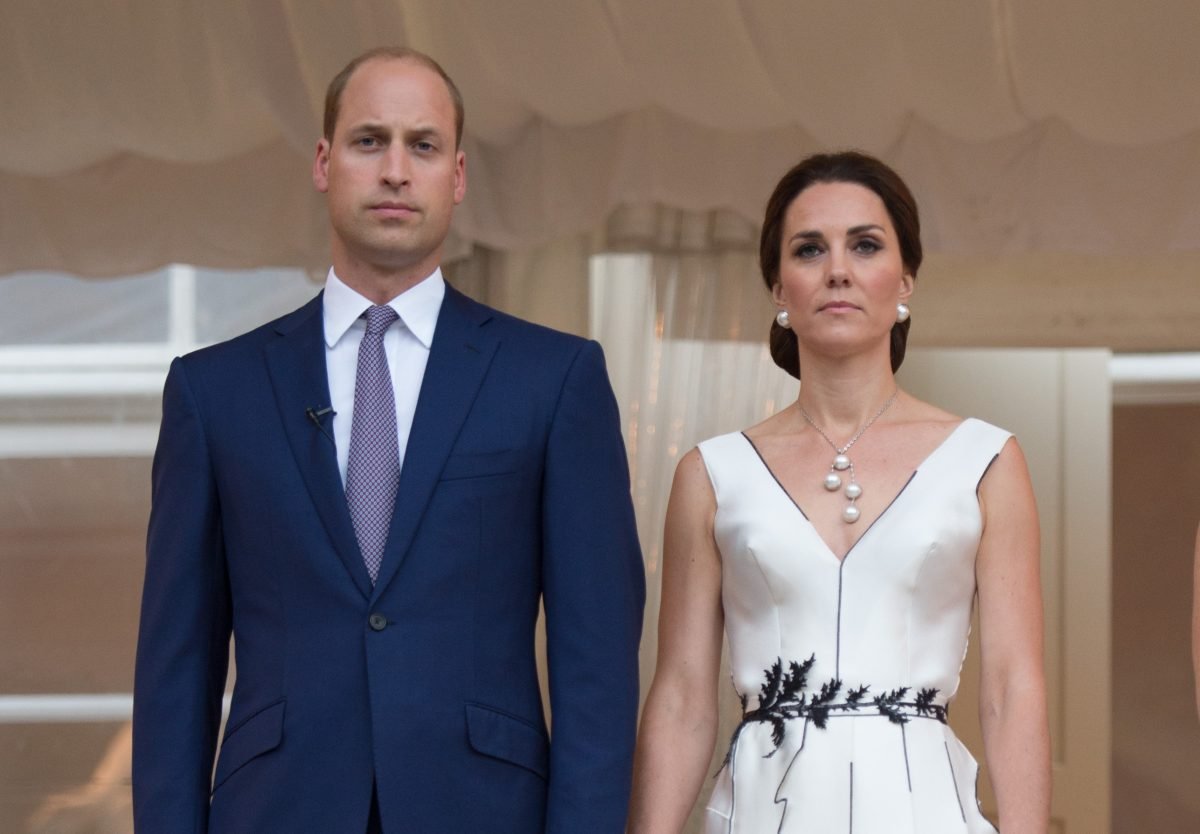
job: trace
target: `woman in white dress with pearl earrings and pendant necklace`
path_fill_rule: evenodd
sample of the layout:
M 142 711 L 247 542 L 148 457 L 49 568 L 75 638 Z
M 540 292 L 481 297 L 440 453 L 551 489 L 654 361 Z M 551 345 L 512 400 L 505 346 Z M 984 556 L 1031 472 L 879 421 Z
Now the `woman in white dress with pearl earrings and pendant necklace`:
M 896 386 L 920 260 L 912 194 L 872 157 L 809 157 L 767 205 L 772 355 L 803 384 L 676 472 L 635 834 L 679 832 L 710 775 L 722 629 L 743 721 L 708 832 L 994 832 L 946 724 L 976 599 L 1000 823 L 1046 830 L 1033 493 L 1007 432 Z

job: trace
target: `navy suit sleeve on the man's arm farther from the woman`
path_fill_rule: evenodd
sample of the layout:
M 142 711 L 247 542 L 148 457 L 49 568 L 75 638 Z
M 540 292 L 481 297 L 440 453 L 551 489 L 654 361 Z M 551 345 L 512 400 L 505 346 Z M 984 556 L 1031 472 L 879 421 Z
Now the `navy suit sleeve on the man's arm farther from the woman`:
M 137 832 L 208 830 L 230 604 L 208 440 L 186 366 L 163 390 L 133 685 Z

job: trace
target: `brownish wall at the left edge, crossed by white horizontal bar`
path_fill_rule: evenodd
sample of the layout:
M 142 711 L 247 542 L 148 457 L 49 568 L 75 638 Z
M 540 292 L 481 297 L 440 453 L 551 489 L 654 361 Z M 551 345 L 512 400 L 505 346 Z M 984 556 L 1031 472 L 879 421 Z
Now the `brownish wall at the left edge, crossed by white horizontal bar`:
M 0 695 L 131 691 L 149 479 L 149 458 L 0 460 Z M 0 724 L 0 832 L 127 832 L 127 761 L 122 724 Z

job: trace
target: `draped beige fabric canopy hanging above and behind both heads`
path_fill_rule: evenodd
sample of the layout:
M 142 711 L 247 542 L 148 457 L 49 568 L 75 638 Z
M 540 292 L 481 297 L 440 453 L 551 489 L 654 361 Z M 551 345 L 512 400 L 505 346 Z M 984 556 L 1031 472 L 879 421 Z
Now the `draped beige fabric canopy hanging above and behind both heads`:
M 323 271 L 324 85 L 383 42 L 466 95 L 462 242 L 643 203 L 755 223 L 788 164 L 853 145 L 911 180 L 934 251 L 1198 250 L 1196 32 L 1190 0 L 11 0 L 0 274 Z

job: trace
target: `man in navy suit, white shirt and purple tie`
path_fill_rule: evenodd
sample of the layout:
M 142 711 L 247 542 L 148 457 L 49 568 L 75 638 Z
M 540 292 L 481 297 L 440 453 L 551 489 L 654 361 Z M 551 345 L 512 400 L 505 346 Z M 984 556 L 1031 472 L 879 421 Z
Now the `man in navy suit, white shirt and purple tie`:
M 140 834 L 624 830 L 644 577 L 617 406 L 598 344 L 443 281 L 461 136 L 432 59 L 352 61 L 313 163 L 324 292 L 172 365 L 134 685 Z M 372 410 L 362 316 L 380 308 L 395 421 L 352 431 Z M 355 515 L 347 478 L 380 463 L 398 474 L 372 499 L 372 558 L 378 517 Z

